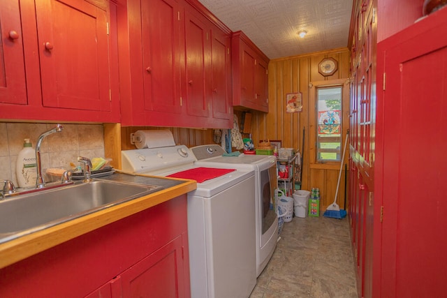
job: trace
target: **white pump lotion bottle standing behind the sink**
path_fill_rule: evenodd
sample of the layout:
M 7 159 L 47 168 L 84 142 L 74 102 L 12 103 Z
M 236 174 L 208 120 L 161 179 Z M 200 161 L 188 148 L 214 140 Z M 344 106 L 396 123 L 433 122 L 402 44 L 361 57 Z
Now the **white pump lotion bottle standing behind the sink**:
M 19 187 L 28 188 L 36 186 L 36 151 L 33 149 L 29 139 L 24 139 L 23 149 L 17 156 L 15 174 Z

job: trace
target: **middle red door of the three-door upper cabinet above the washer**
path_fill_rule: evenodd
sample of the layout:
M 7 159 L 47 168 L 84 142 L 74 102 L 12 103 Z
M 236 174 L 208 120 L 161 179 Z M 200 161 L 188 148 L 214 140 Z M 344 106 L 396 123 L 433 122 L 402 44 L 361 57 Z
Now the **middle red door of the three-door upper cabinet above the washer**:
M 211 36 L 203 18 L 185 9 L 186 110 L 208 117 L 211 98 Z

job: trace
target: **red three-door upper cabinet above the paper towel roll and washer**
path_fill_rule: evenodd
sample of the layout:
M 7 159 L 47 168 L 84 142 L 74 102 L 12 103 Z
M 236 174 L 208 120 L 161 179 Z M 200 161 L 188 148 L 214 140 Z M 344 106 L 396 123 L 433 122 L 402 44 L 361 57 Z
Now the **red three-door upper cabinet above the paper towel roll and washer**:
M 219 114 L 233 112 L 228 97 L 214 107 L 212 62 L 226 71 L 230 60 L 213 52 L 214 20 L 200 3 L 119 0 L 118 24 L 123 126 L 231 128 Z

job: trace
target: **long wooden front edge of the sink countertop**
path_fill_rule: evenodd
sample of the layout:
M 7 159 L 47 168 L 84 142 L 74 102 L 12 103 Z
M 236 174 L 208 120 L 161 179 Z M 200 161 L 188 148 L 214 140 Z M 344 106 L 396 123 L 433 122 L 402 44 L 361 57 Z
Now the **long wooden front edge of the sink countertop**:
M 194 180 L 176 180 L 184 183 L 0 244 L 0 269 L 197 188 Z

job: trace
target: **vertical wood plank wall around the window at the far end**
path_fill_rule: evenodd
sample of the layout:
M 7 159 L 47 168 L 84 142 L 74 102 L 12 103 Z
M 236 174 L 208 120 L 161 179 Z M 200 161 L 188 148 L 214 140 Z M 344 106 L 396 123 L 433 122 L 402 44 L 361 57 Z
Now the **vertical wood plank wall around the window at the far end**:
M 347 48 L 316 52 L 295 57 L 270 60 L 268 67 L 269 79 L 269 113 L 253 112 L 251 134 L 254 143 L 259 140 L 281 140 L 282 147 L 302 150 L 302 131 L 305 128 L 304 166 L 302 172 L 302 189 L 312 190 L 320 188 L 321 206 L 323 210 L 334 200 L 340 164 L 310 163 L 309 150 L 314 144 L 309 144 L 310 131 L 316 126 L 310 123 L 312 82 L 341 79 L 348 80 L 350 68 L 350 52 Z M 318 64 L 325 57 L 332 57 L 338 61 L 338 70 L 329 77 L 318 73 Z M 349 88 L 349 84 L 346 86 Z M 302 92 L 303 108 L 299 113 L 286 112 L 286 94 Z M 343 136 L 349 128 L 349 96 L 344 98 L 344 126 Z M 344 140 L 344 137 L 343 137 Z M 345 163 L 349 151 L 346 151 Z M 337 204 L 344 208 L 344 171 L 340 181 Z

